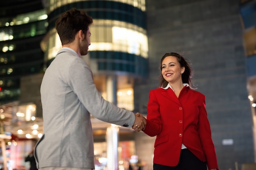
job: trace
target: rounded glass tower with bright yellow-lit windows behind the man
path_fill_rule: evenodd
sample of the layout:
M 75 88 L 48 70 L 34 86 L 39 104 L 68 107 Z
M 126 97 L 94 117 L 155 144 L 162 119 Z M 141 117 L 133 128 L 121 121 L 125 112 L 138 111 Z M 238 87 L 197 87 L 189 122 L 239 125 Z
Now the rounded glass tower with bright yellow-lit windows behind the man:
M 49 26 L 42 41 L 45 68 L 61 49 L 55 21 L 73 7 L 92 16 L 91 45 L 85 60 L 90 64 L 97 89 L 118 107 L 134 110 L 135 78 L 146 78 L 148 38 L 145 0 L 48 0 Z

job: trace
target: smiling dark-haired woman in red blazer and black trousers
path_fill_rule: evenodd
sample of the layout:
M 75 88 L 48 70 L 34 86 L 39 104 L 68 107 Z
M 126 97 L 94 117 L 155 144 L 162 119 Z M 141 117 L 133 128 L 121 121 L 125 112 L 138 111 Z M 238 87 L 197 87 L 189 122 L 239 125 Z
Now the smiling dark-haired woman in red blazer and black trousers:
M 143 130 L 157 136 L 153 169 L 218 170 L 205 96 L 192 89 L 189 64 L 171 52 L 164 54 L 160 68 L 160 88 L 149 92 Z

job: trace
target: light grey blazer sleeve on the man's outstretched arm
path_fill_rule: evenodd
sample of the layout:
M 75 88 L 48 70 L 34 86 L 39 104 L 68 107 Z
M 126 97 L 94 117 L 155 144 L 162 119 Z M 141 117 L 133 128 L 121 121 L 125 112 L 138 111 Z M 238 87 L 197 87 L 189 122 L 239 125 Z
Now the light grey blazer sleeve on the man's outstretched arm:
M 70 87 L 94 117 L 104 122 L 132 127 L 134 113 L 104 100 L 93 82 L 91 69 L 82 59 L 78 58 L 70 64 L 68 74 Z

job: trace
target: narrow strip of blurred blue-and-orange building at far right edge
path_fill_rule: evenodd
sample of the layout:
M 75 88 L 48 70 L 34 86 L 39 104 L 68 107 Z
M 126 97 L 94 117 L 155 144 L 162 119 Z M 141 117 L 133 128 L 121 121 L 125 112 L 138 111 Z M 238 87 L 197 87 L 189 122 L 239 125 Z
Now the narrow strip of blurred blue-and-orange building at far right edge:
M 241 0 L 239 7 L 247 68 L 248 99 L 250 100 L 252 108 L 254 141 L 256 141 L 256 1 Z M 255 142 L 254 148 L 256 148 Z M 255 153 L 256 150 L 254 150 L 254 155 Z

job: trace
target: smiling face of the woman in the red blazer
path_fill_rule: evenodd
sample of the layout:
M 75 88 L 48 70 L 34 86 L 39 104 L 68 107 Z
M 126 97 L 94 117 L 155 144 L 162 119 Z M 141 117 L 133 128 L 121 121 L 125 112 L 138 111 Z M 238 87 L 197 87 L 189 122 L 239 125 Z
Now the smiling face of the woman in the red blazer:
M 161 67 L 162 75 L 169 84 L 176 83 L 177 81 L 182 82 L 182 73 L 184 72 L 185 68 L 180 67 L 180 63 L 177 61 L 177 57 L 165 57 Z

